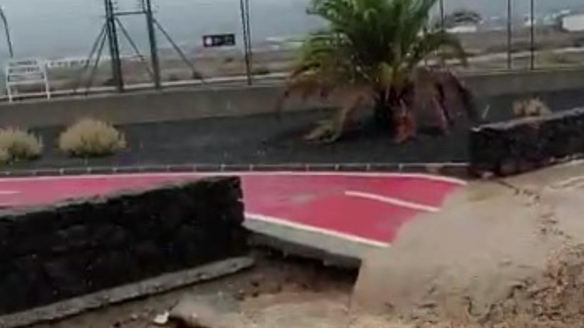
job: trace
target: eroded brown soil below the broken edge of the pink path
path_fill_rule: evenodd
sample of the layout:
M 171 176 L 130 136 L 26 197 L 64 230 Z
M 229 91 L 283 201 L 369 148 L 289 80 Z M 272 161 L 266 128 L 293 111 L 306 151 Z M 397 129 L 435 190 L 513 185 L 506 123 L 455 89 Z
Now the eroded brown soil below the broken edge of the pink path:
M 315 313 L 321 309 L 315 308 L 315 305 L 328 307 L 331 313 L 346 313 L 356 272 L 325 268 L 321 263 L 307 260 L 283 260 L 279 254 L 258 253 L 256 257 L 256 266 L 243 273 L 33 327 L 155 327 L 152 323 L 155 316 L 171 309 L 185 297 L 211 306 L 218 312 L 221 322 L 227 323 L 228 327 L 251 327 L 254 322 L 259 323 L 255 327 L 276 327 L 266 320 L 311 322 L 310 313 L 315 320 L 318 316 L 322 317 Z M 287 310 L 294 308 L 296 310 Z M 263 316 L 264 312 L 279 313 L 279 316 Z M 304 316 L 307 313 L 308 316 Z M 237 324 L 230 324 L 234 320 Z M 262 320 L 265 324 L 261 324 Z M 244 321 L 246 324 L 243 324 Z M 286 324 L 282 327 L 305 326 Z

